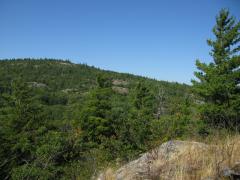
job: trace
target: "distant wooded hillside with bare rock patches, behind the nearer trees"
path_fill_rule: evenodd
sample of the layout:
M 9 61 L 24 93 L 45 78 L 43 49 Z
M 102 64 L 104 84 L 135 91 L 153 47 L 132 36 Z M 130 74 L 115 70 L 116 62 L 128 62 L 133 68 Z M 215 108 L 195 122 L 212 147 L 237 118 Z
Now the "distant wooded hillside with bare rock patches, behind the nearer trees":
M 106 76 L 110 79 L 113 90 L 124 95 L 125 99 L 133 93 L 139 82 L 143 82 L 154 96 L 164 96 L 159 98 L 164 101 L 161 102 L 164 106 L 162 108 L 164 111 L 168 110 L 169 113 L 171 113 L 169 106 L 175 109 L 174 104 L 181 104 L 185 99 L 192 96 L 190 87 L 184 84 L 105 71 L 85 64 L 74 64 L 70 61 L 53 59 L 0 61 L 1 92 L 8 92 L 15 81 L 27 83 L 28 86 L 32 87 L 35 92 L 34 96 L 40 100 L 41 104 L 49 106 L 50 109 L 53 107 L 52 113 L 57 116 L 53 117 L 54 119 L 62 119 L 67 110 L 75 111 L 76 106 L 81 106 L 87 93 L 97 87 L 98 76 Z M 73 114 L 70 114 L 70 116 L 73 116 Z

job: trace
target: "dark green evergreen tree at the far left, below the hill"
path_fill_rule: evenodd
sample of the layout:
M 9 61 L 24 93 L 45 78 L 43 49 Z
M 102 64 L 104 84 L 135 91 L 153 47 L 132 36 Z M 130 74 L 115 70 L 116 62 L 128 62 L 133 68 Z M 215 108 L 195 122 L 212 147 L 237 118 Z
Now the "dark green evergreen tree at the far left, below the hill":
M 36 130 L 43 123 L 43 117 L 40 107 L 33 103 L 31 96 L 28 84 L 21 81 L 13 82 L 11 94 L 4 96 L 10 108 L 5 116 L 7 121 L 1 121 L 4 147 L 1 153 L 1 176 L 4 173 L 9 176 L 13 168 L 33 160 Z

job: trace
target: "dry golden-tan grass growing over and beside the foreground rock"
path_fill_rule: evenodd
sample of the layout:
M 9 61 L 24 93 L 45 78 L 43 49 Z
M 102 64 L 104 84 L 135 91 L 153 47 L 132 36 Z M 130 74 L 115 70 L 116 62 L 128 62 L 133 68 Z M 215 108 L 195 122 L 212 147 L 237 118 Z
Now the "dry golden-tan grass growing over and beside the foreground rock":
M 194 143 L 189 143 L 167 159 L 152 151 L 149 154 L 152 157 L 147 179 L 223 179 L 223 170 L 232 168 L 240 162 L 240 135 L 227 136 L 224 139 L 215 137 L 205 144 L 207 145 L 196 146 Z M 136 172 L 127 172 L 130 174 L 129 177 L 134 173 Z M 114 171 L 107 169 L 103 179 L 114 180 Z

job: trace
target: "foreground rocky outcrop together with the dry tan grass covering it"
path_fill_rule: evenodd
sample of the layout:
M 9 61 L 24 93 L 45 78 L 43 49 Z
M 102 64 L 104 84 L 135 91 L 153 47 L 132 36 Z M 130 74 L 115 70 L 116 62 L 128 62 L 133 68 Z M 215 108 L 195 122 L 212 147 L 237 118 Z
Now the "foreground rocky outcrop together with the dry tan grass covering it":
M 238 143 L 240 141 L 233 146 L 210 146 L 198 142 L 169 141 L 116 171 L 109 169 L 101 173 L 97 179 L 240 180 Z

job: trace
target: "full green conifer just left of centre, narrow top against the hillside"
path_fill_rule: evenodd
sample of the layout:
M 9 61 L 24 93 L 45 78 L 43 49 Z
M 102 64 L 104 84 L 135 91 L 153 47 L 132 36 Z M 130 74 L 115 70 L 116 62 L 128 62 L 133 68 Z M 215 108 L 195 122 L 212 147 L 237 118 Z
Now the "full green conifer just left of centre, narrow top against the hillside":
M 111 119 L 111 96 L 113 94 L 110 80 L 97 78 L 98 87 L 92 90 L 81 112 L 80 126 L 86 142 L 101 144 L 103 138 L 114 135 Z

